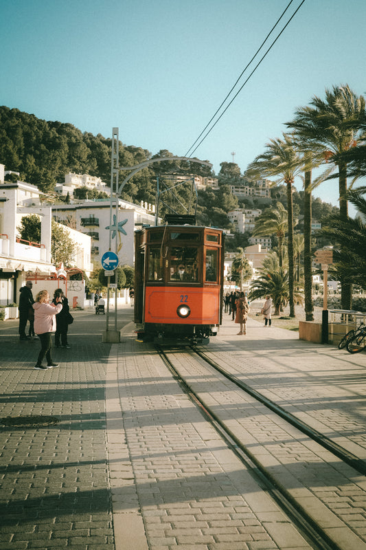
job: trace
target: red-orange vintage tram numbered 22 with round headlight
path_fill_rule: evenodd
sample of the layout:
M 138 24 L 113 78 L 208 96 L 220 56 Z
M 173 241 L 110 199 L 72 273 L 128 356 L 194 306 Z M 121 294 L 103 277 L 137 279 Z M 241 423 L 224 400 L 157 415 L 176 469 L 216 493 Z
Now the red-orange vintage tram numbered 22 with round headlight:
M 135 232 L 135 323 L 144 340 L 208 343 L 222 322 L 222 230 L 160 225 Z

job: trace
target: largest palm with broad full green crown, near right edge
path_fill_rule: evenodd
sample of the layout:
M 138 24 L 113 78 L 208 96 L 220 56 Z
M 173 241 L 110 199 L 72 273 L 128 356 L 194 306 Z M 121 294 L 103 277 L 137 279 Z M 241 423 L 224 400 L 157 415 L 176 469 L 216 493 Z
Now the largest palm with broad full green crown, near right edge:
M 357 97 L 348 85 L 325 89 L 325 101 L 314 96 L 312 107 L 295 111 L 295 119 L 287 122 L 295 137 L 309 151 L 312 147 L 323 151 L 325 162 L 339 168 L 339 209 L 341 219 L 348 217 L 346 151 L 357 145 L 365 124 L 365 98 Z M 350 309 L 352 286 L 342 284 L 342 307 Z

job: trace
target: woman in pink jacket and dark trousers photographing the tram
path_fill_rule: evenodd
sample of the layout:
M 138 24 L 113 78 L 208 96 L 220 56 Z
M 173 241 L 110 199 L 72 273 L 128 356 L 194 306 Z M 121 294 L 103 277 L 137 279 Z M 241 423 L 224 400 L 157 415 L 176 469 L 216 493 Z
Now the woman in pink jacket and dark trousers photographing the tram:
M 60 302 L 61 298 L 56 301 Z M 33 304 L 34 309 L 34 331 L 39 336 L 41 341 L 41 351 L 38 355 L 38 360 L 34 369 L 38 371 L 47 371 L 57 363 L 52 361 L 52 333 L 56 331 L 56 314 L 59 314 L 62 309 L 62 304 L 49 304 L 49 294 L 47 290 L 41 290 L 36 296 L 36 301 Z M 43 358 L 46 356 L 47 366 L 42 365 Z

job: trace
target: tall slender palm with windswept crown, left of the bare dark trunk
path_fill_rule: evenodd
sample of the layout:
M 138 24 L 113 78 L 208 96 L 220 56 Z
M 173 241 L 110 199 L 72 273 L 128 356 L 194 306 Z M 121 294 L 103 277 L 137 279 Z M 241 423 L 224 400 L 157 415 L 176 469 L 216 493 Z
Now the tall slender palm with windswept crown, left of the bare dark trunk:
M 294 253 L 293 253 L 293 182 L 301 172 L 301 159 L 292 138 L 284 134 L 284 139 L 277 138 L 266 144 L 266 151 L 255 157 L 249 164 L 247 175 L 262 177 L 279 176 L 279 182 L 286 184 L 287 221 L 288 221 L 288 301 L 290 317 L 295 317 L 294 302 Z

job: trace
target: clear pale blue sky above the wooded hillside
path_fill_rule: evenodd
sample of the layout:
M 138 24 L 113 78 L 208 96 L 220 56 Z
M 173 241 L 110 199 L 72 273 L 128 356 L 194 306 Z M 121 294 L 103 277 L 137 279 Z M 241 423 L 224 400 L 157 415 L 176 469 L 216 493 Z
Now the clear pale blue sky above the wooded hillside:
M 0 104 L 185 155 L 287 4 L 0 0 Z M 365 28 L 365 0 L 306 0 L 194 156 L 243 172 L 326 87 L 366 94 Z M 336 180 L 314 195 L 336 204 Z

